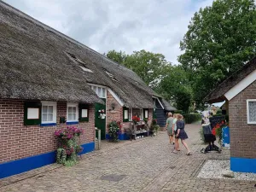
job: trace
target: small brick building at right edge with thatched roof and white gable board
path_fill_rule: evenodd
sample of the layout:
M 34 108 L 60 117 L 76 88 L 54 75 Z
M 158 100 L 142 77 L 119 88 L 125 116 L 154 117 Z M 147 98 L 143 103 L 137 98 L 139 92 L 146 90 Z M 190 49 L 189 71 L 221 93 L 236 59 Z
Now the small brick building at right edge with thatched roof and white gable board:
M 256 173 L 256 57 L 219 84 L 206 101 L 226 103 L 231 170 Z

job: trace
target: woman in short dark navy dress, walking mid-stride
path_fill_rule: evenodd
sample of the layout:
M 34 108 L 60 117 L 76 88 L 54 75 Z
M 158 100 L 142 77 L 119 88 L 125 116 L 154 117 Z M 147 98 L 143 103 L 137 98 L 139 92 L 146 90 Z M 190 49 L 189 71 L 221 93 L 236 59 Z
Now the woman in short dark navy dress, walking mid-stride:
M 185 143 L 185 140 L 189 137 L 184 128 L 185 122 L 183 120 L 183 115 L 177 114 L 177 130 L 175 132 L 175 143 L 177 143 L 178 139 L 180 139 L 181 143 L 183 143 L 183 146 L 187 149 L 187 155 L 191 155 L 191 151 L 189 150 L 188 144 Z M 173 153 L 177 154 L 177 144 L 175 145 Z

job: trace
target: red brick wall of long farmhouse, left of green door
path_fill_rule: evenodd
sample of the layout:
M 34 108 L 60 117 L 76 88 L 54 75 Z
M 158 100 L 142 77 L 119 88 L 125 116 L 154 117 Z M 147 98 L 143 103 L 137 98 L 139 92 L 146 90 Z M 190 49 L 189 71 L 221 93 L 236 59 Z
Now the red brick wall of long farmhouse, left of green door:
M 57 125 L 23 125 L 24 101 L 0 99 L 0 163 L 54 151 L 54 131 L 67 126 L 60 124 L 60 116 L 67 116 L 66 102 L 57 102 Z M 75 126 L 84 129 L 84 135 L 80 138 L 81 144 L 94 142 L 93 105 L 90 105 L 89 122 Z

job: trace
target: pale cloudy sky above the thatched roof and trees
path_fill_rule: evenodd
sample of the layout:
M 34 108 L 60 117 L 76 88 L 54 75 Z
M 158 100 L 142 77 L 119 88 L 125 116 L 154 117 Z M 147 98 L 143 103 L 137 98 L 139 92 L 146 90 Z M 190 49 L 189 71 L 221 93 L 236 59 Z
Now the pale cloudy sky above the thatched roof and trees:
M 212 0 L 4 0 L 100 53 L 146 49 L 177 64 L 195 11 Z

